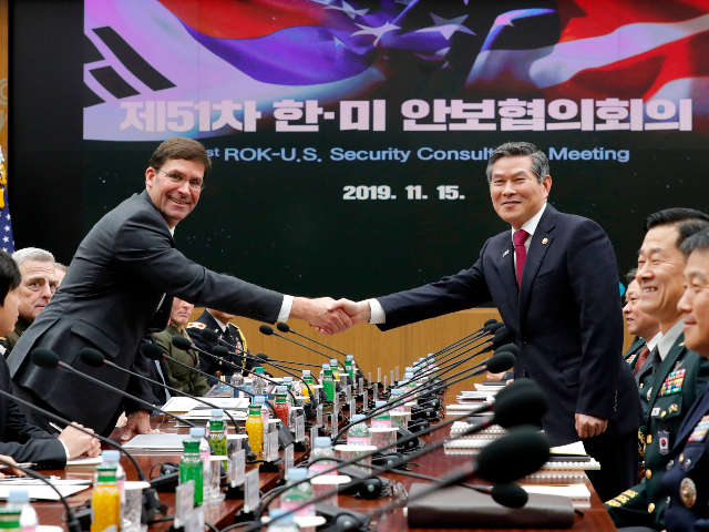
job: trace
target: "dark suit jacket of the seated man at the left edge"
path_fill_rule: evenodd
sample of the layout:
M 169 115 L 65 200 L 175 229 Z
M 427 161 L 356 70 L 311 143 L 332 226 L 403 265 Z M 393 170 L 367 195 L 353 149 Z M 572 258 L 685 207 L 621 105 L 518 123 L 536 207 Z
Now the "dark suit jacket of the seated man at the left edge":
M 8 364 L 2 357 L 0 388 L 12 393 Z M 63 469 L 66 464 L 66 451 L 56 436 L 28 424 L 18 403 L 0 397 L 0 454 L 12 457 L 16 462 L 35 462 L 44 469 Z

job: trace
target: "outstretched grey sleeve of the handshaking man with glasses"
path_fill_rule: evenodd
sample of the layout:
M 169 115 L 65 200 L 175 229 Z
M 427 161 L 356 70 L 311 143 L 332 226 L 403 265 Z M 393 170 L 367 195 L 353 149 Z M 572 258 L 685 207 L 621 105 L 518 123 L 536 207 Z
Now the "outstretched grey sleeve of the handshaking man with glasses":
M 235 277 L 218 275 L 172 246 L 166 227 L 141 211 L 129 217 L 113 246 L 115 266 L 166 294 L 195 305 L 276 323 L 284 296 Z

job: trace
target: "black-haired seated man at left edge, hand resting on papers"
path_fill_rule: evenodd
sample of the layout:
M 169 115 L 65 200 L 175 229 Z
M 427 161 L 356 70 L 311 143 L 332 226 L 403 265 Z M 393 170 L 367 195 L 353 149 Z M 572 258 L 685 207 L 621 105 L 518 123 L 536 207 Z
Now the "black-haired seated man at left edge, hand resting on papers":
M 10 255 L 0 250 L 0 335 L 12 331 L 18 319 L 20 282 L 18 266 Z M 4 358 L 0 358 L 0 389 L 12 393 L 12 381 Z M 84 453 L 99 456 L 101 442 L 71 426 L 56 437 L 28 424 L 18 403 L 0 397 L 0 454 L 12 457 L 18 462 L 35 462 L 41 468 L 56 469 Z

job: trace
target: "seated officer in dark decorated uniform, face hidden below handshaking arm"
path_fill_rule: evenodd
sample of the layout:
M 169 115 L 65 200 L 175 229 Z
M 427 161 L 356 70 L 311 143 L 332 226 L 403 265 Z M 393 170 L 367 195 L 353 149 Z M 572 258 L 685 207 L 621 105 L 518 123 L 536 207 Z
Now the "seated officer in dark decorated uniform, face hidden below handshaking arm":
M 193 344 L 203 351 L 212 352 L 212 349 L 216 346 L 226 347 L 230 352 L 247 351 L 246 337 L 239 327 L 229 323 L 232 319 L 234 319 L 234 315 L 222 313 L 214 308 L 205 308 L 202 316 L 187 325 L 187 334 L 189 334 Z M 217 341 L 207 341 L 202 337 L 202 330 L 205 328 L 212 329 L 218 335 Z M 242 367 L 244 375 L 248 375 L 246 370 L 260 366 L 260 364 L 255 364 L 250 358 L 232 354 L 225 357 L 225 361 L 230 364 L 224 364 L 222 360 L 216 360 L 214 357 L 199 352 L 202 371 L 215 377 L 209 379 L 210 385 L 215 385 L 218 380 L 228 382 L 235 371 L 232 365 Z

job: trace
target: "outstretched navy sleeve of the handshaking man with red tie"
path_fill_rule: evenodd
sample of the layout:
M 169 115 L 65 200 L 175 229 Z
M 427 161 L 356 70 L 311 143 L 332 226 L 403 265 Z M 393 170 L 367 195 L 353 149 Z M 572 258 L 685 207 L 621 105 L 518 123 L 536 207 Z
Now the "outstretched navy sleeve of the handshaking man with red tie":
M 412 290 L 378 297 L 377 300 L 387 315 L 387 323 L 378 327 L 389 330 L 491 300 L 483 268 L 483 255 L 487 244 L 490 241 L 485 243 L 480 258 L 470 269 L 463 269 L 458 275 L 443 277 L 438 283 Z

